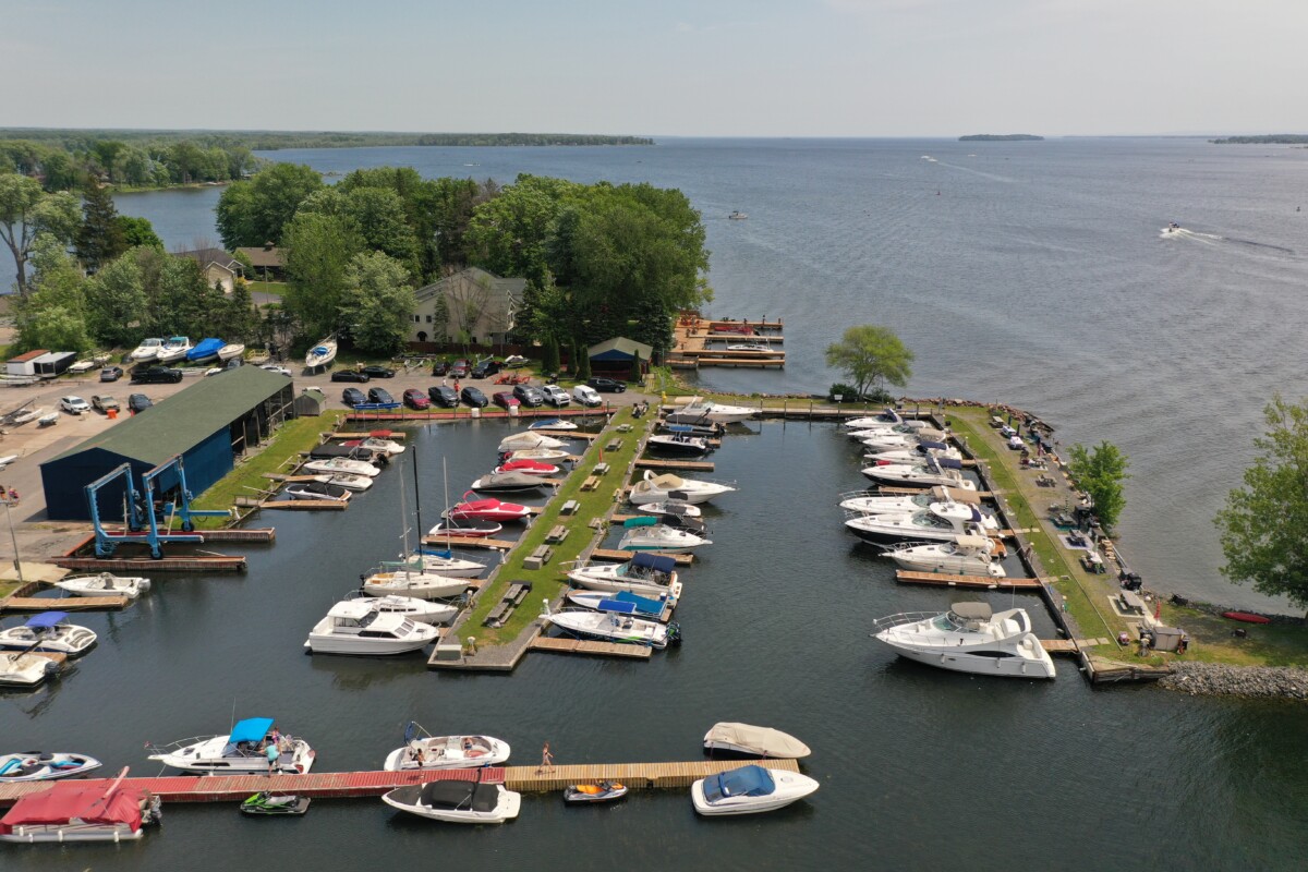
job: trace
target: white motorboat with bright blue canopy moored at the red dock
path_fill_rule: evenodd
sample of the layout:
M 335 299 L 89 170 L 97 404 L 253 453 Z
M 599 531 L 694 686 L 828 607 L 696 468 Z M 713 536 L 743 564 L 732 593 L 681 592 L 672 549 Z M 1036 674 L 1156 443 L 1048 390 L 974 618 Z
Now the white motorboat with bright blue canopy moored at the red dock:
M 276 741 L 280 754 L 268 765 L 268 744 Z M 165 766 L 199 775 L 263 775 L 273 770 L 283 775 L 307 773 L 314 765 L 314 749 L 303 739 L 286 733 L 273 736 L 272 718 L 246 718 L 230 733 L 183 739 L 164 748 L 146 745 Z

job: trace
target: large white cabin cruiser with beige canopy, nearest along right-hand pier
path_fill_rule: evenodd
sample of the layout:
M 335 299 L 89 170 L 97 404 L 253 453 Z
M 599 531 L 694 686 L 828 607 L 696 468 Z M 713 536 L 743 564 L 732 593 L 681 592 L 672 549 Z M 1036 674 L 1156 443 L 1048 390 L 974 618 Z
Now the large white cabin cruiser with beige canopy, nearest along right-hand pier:
M 1054 662 L 1031 630 L 1025 609 L 993 613 L 989 603 L 955 603 L 944 613 L 883 617 L 874 628 L 874 638 L 927 665 L 1012 679 L 1054 677 Z

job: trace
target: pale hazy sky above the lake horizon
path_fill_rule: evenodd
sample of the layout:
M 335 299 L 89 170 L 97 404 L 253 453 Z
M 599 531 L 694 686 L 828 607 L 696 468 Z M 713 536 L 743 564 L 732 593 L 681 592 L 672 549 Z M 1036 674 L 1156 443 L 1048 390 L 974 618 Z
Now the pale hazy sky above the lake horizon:
M 1308 131 L 1308 0 L 0 0 L 0 126 Z

